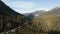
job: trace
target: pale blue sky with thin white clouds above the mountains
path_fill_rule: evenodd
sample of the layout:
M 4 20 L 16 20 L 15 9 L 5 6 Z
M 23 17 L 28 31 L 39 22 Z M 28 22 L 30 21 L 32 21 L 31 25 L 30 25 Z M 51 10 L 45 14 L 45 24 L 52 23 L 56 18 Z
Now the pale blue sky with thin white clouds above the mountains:
M 60 6 L 60 0 L 2 0 L 10 8 L 21 14 L 37 10 L 50 10 Z

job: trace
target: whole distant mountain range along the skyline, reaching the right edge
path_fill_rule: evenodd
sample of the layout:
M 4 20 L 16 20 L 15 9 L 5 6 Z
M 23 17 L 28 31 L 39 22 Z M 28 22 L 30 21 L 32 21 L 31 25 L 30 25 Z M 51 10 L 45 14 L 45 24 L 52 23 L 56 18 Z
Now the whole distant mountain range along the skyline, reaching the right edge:
M 45 10 L 40 10 L 40 11 L 35 11 L 32 13 L 26 13 L 24 14 L 25 16 L 29 16 L 29 15 L 33 15 L 33 16 L 40 16 L 40 15 L 60 15 L 60 7 L 54 7 L 53 9 L 49 10 L 49 11 L 45 11 Z

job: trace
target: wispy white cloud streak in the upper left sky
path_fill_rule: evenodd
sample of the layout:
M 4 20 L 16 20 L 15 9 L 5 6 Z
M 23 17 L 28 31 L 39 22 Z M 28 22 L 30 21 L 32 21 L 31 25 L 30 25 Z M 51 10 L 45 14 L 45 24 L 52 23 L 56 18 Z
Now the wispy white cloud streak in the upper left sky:
M 32 8 L 35 4 L 30 2 L 15 1 L 10 2 L 8 5 L 16 8 Z

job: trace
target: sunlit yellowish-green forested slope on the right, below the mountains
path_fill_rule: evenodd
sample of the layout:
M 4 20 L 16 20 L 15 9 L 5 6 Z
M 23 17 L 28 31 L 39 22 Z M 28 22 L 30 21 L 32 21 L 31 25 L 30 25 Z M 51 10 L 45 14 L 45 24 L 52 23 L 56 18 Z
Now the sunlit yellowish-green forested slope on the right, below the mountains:
M 58 30 L 60 31 L 60 15 L 44 15 L 33 19 L 33 23 L 43 30 Z M 40 25 L 40 26 L 39 26 Z

